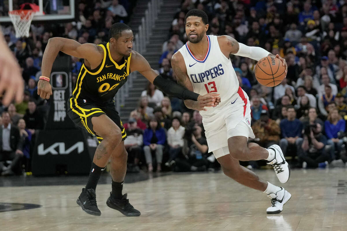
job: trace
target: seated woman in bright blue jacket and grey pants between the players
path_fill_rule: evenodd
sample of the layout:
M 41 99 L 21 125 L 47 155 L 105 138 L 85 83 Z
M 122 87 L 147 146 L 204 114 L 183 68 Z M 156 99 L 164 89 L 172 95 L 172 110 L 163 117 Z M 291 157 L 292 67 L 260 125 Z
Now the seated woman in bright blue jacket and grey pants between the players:
M 160 126 L 158 119 L 151 117 L 149 120 L 148 128 L 143 133 L 143 151 L 145 153 L 148 171 L 153 171 L 152 152 L 155 152 L 156 157 L 156 171 L 161 171 L 161 162 L 163 159 L 164 144 L 166 141 L 165 130 Z

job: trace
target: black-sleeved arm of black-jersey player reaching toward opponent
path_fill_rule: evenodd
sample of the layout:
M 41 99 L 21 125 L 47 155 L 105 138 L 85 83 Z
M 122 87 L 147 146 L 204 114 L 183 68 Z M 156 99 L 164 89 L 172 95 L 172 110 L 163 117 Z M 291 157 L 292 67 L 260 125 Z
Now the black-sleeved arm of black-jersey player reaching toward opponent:
M 179 99 L 190 99 L 197 103 L 202 103 L 202 101 L 208 100 L 210 104 L 214 102 L 212 95 L 200 96 L 193 92 L 193 87 L 191 89 L 184 88 L 177 83 L 164 79 L 158 75 L 147 62 L 147 60 L 139 53 L 133 51 L 132 61 L 130 62 L 130 70 L 140 72 L 146 79 L 153 83 L 156 87 L 160 88 L 164 93 L 174 96 Z M 217 94 L 215 94 L 217 95 Z M 201 110 L 201 109 L 200 109 Z

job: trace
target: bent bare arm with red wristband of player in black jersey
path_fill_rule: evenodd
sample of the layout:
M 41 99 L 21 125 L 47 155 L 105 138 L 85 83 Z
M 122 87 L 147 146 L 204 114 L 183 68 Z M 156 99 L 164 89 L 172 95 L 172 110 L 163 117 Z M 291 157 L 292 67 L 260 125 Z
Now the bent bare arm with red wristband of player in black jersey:
M 68 38 L 50 38 L 42 57 L 42 76 L 50 77 L 53 62 L 59 51 L 87 60 L 92 69 L 96 68 L 103 59 L 102 47 L 93 43 L 81 44 Z M 37 94 L 43 99 L 49 99 L 50 95 L 52 95 L 52 87 L 49 81 L 39 80 L 37 83 Z

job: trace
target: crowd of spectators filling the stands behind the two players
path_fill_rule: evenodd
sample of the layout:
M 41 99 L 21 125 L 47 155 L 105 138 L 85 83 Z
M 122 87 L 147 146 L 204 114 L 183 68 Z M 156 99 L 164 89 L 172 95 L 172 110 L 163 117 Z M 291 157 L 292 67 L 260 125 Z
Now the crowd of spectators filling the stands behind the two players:
M 0 107 L 0 111 L 8 111 L 12 124 L 18 124 L 23 145 L 30 147 L 35 130 L 42 127 L 28 118 L 42 121 L 38 118 L 44 117 L 45 101 L 36 96 L 36 83 L 48 39 L 63 36 L 80 43 L 107 41 L 113 23 L 127 23 L 133 2 L 81 1 L 76 22 L 32 25 L 26 39 L 16 39 L 11 27 L 3 28 L 23 68 L 26 91 L 22 104 Z M 176 81 L 171 57 L 187 42 L 184 18 L 195 8 L 209 16 L 208 35 L 228 35 L 286 59 L 287 78 L 270 88 L 256 81 L 255 60 L 230 55 L 239 84 L 250 98 L 256 137 L 249 141 L 265 148 L 279 144 L 292 167 L 345 166 L 347 1 L 183 0 L 158 56 L 158 72 L 164 78 Z M 82 63 L 71 60 L 76 77 Z M 201 115 L 187 109 L 182 100 L 165 96 L 151 83 L 124 126 L 128 171 L 218 169 L 218 162 L 208 151 Z M 24 148 L 20 151 L 24 153 Z M 242 164 L 248 168 L 265 166 L 264 161 Z

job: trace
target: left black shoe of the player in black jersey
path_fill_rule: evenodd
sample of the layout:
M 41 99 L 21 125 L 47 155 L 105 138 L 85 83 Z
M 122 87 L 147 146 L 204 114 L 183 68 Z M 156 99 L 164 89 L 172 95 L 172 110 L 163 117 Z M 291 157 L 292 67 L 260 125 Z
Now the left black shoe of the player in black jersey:
M 79 195 L 76 202 L 81 206 L 84 212 L 94 216 L 101 215 L 101 212 L 96 205 L 96 194 L 94 189 L 82 188 L 82 193 Z

